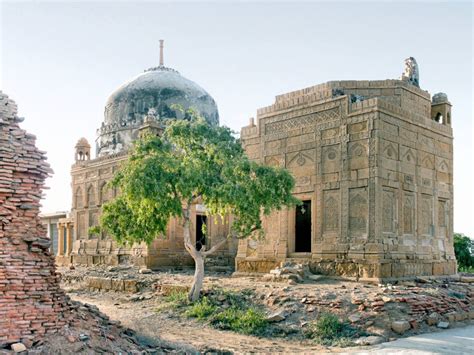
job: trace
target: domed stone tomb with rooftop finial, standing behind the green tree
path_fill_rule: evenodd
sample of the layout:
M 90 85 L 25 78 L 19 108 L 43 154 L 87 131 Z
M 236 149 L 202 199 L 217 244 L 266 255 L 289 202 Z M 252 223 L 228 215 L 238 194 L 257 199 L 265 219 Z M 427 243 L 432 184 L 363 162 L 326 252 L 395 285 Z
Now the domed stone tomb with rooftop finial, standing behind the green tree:
M 71 169 L 72 209 L 70 219 L 60 221 L 60 247 L 57 262 L 68 264 L 109 264 L 130 262 L 142 267 L 162 265 L 193 265 L 184 249 L 180 221 L 169 223 L 166 236 L 146 244 L 122 247 L 107 235 L 91 235 L 89 230 L 99 222 L 102 205 L 116 196 L 117 191 L 107 188 L 109 182 L 127 159 L 129 148 L 140 132 L 158 132 L 167 119 L 186 119 L 184 110 L 194 109 L 209 124 L 219 124 L 214 99 L 199 85 L 181 76 L 176 70 L 163 65 L 161 43 L 160 65 L 145 70 L 115 90 L 107 100 L 104 121 L 97 130 L 96 157 L 92 159 L 91 146 L 81 138 L 75 146 L 75 163 Z M 218 243 L 228 234 L 228 221 L 206 216 L 204 206 L 192 208 L 193 237 L 200 249 Z M 202 224 L 207 225 L 207 235 Z M 66 227 L 64 227 L 66 226 Z M 221 248 L 218 263 L 233 265 L 237 244 Z

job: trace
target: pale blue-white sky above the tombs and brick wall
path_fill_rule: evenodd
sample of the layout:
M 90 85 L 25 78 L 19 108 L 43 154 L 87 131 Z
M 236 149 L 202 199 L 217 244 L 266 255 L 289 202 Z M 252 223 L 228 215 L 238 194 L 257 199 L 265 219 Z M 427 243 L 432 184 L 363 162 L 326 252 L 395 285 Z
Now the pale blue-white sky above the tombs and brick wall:
M 454 230 L 474 237 L 473 5 L 464 2 L 132 2 L 0 0 L 0 88 L 47 151 L 43 211 L 71 207 L 74 145 L 95 142 L 108 95 L 158 64 L 216 100 L 239 131 L 274 96 L 330 80 L 396 79 L 453 104 Z

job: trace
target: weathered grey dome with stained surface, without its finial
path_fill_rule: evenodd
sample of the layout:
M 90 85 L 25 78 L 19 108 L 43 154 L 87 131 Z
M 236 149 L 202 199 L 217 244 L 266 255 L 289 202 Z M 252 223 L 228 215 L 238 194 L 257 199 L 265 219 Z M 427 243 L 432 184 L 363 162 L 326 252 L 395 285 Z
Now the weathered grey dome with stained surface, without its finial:
M 129 80 L 110 95 L 104 122 L 97 132 L 97 155 L 129 148 L 150 110 L 160 121 L 186 119 L 186 114 L 174 105 L 184 110 L 194 109 L 210 124 L 219 124 L 214 99 L 176 70 L 160 65 Z

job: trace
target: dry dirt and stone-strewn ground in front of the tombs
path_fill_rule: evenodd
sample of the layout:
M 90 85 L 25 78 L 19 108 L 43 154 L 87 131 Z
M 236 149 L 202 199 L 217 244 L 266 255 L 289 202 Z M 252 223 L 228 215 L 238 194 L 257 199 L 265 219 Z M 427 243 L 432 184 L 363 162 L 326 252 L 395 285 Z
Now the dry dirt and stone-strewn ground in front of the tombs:
M 139 274 L 131 267 L 109 267 L 62 269 L 61 272 L 63 287 L 73 300 L 96 305 L 110 319 L 136 331 L 144 343 L 169 344 L 190 352 L 347 352 L 350 349 L 317 345 L 295 335 L 323 312 L 336 314 L 341 320 L 384 341 L 441 331 L 439 322 L 448 323 L 450 328 L 472 324 L 470 319 L 474 318 L 474 283 L 459 279 L 419 279 L 397 285 L 370 285 L 331 278 L 288 284 L 264 281 L 261 277 L 207 276 L 205 289 L 250 289 L 255 301 L 264 305 L 268 313 L 285 312 L 285 319 L 279 325 L 288 330 L 288 336 L 263 338 L 217 330 L 180 317 L 171 310 L 157 311 L 163 298 L 156 290 L 163 285 L 191 284 L 191 271 Z M 89 277 L 135 279 L 140 287 L 135 293 L 91 290 L 86 287 Z M 433 314 L 437 317 L 436 322 L 428 320 L 433 319 Z M 409 329 L 395 332 L 392 324 L 396 321 L 409 322 Z M 357 349 L 361 350 L 361 347 Z

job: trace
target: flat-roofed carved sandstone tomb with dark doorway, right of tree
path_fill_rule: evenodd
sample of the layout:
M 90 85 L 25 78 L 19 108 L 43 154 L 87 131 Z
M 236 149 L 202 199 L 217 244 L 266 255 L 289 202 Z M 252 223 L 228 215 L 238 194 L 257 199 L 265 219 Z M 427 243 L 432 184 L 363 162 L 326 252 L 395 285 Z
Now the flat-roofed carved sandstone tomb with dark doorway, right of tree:
M 367 280 L 456 273 L 451 104 L 418 83 L 409 58 L 401 80 L 332 81 L 258 110 L 243 145 L 289 169 L 303 205 L 241 240 L 237 271 L 291 259 Z

